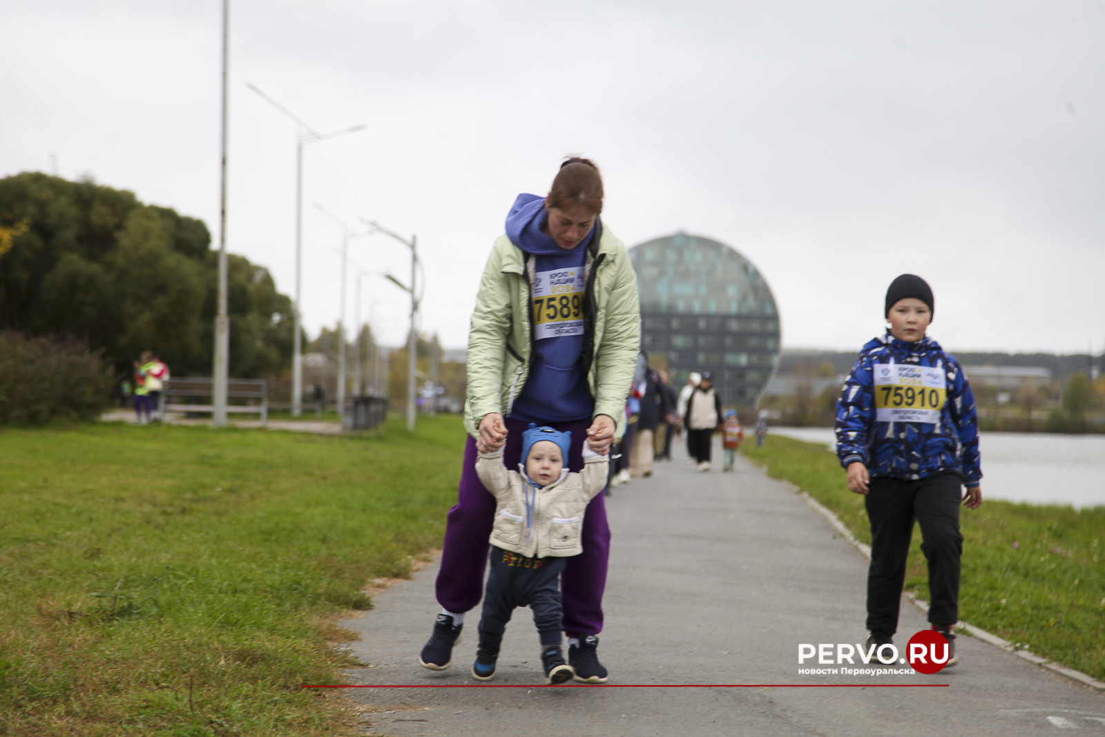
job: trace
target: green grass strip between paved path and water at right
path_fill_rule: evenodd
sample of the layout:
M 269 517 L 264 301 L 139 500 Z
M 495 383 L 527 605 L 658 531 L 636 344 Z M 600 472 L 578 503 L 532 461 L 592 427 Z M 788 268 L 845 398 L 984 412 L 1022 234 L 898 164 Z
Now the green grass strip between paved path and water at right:
M 824 445 L 768 435 L 740 452 L 832 509 L 870 545 L 863 497 Z M 982 459 L 986 468 L 986 457 Z M 1038 655 L 1105 678 L 1105 507 L 1012 504 L 986 498 L 962 508 L 959 618 Z M 928 575 L 914 528 L 906 589 L 928 599 Z M 862 592 L 856 592 L 862 596 Z

